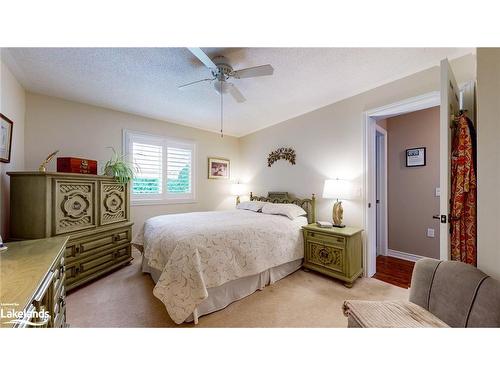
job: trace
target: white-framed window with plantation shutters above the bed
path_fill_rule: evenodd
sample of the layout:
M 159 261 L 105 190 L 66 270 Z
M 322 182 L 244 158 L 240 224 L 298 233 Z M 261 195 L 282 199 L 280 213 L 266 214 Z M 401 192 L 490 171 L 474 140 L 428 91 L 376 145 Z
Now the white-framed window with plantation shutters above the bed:
M 124 146 L 136 168 L 133 203 L 194 201 L 193 142 L 125 130 Z

